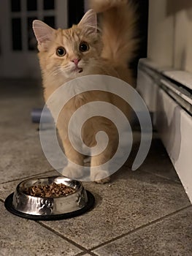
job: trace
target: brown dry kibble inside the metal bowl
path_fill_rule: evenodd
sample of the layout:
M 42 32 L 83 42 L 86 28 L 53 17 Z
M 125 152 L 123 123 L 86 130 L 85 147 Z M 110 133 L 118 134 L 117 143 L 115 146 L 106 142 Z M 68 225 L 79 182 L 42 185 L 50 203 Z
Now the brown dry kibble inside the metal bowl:
M 64 195 L 70 195 L 74 193 L 75 189 L 68 187 L 64 184 L 47 184 L 45 186 L 31 186 L 27 187 L 24 192 L 27 195 L 32 195 L 34 197 L 62 197 Z

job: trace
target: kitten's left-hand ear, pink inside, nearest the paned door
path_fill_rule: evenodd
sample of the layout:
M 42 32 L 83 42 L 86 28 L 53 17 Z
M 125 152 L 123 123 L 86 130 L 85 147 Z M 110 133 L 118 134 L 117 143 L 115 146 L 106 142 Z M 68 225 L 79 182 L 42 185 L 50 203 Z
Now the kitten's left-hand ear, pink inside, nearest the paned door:
M 52 41 L 54 38 L 55 29 L 52 29 L 41 20 L 33 21 L 33 29 L 35 37 L 37 38 L 39 50 L 47 50 L 48 42 Z

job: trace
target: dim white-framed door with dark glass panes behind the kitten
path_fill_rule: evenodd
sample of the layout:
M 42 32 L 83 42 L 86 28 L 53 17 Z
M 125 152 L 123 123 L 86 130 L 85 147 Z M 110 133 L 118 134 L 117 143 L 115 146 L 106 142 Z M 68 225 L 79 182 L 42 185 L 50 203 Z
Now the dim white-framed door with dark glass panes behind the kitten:
M 40 76 L 37 40 L 32 30 L 35 19 L 54 28 L 67 27 L 67 0 L 0 1 L 0 76 Z

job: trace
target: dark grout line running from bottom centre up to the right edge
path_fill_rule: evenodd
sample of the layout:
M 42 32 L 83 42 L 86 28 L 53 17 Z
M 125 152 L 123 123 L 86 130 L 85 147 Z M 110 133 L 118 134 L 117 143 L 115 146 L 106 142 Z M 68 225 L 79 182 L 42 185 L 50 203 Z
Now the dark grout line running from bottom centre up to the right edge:
M 123 237 L 125 237 L 125 236 L 129 236 L 129 235 L 131 235 L 132 233 L 136 233 L 137 231 L 142 230 L 142 229 L 145 228 L 145 227 L 149 227 L 149 226 L 154 225 L 154 224 L 156 224 L 156 223 L 158 223 L 158 222 L 161 222 L 162 220 L 167 219 L 167 218 L 169 218 L 169 217 L 172 217 L 172 216 L 174 216 L 175 214 L 179 213 L 180 211 L 184 211 L 184 210 L 187 209 L 187 208 L 192 208 L 192 206 L 191 206 L 191 205 L 185 206 L 185 207 L 183 207 L 183 208 L 181 208 L 181 209 L 179 209 L 179 210 L 177 210 L 177 211 L 172 212 L 171 214 L 167 214 L 167 215 L 165 215 L 164 217 L 161 217 L 161 218 L 159 218 L 159 219 L 155 219 L 155 220 L 153 220 L 152 222 L 148 222 L 147 224 L 142 225 L 142 226 L 140 226 L 140 227 L 137 227 L 137 228 L 135 228 L 134 230 L 131 230 L 131 231 L 127 232 L 127 233 L 124 233 L 123 235 L 120 235 L 120 236 L 117 236 L 117 237 L 115 237 L 115 238 L 112 238 L 112 239 L 110 239 L 109 241 L 104 242 L 104 243 L 102 243 L 102 244 L 100 244 L 100 245 L 98 245 L 98 246 L 94 246 L 93 248 L 90 249 L 90 251 L 93 251 L 94 249 L 98 249 L 98 248 L 100 248 L 101 246 L 110 244 L 110 243 L 112 243 L 112 242 L 114 242 L 114 241 L 117 241 L 118 239 L 123 238 Z M 89 251 L 88 251 L 88 252 L 89 252 Z

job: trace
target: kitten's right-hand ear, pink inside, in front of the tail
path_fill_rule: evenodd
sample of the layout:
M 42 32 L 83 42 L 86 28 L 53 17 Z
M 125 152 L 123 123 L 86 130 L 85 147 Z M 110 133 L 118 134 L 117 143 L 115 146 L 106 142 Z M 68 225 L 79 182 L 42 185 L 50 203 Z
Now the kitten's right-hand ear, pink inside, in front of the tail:
M 80 20 L 78 24 L 80 28 L 82 28 L 86 34 L 93 34 L 97 31 L 97 21 L 96 21 L 96 12 L 92 9 L 88 10 L 85 15 Z

